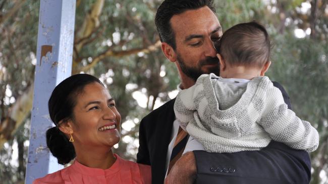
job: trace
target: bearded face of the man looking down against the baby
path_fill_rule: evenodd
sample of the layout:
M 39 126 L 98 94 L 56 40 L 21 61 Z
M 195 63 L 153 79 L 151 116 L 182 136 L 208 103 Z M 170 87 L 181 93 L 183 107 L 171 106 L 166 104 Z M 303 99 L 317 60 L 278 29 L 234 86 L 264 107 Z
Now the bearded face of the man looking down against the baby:
M 171 26 L 180 74 L 194 81 L 203 73 L 218 75 L 219 61 L 213 42 L 221 38 L 222 29 L 214 13 L 208 7 L 189 10 L 173 16 Z

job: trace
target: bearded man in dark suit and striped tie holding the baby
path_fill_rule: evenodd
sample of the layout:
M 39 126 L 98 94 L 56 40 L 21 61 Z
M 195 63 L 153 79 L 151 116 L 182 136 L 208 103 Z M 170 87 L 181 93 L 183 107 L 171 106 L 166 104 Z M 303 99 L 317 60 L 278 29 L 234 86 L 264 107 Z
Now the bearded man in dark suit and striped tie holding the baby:
M 222 28 L 212 0 L 165 0 L 157 10 L 155 24 L 163 53 L 177 66 L 181 89 L 192 86 L 202 73 L 218 75 L 213 42 L 220 40 Z M 278 83 L 275 85 L 290 107 L 286 91 Z M 154 110 L 140 123 L 137 162 L 151 165 L 152 183 L 163 183 L 167 173 L 169 183 L 193 182 L 194 178 L 196 183 L 309 182 L 308 153 L 274 141 L 260 151 L 188 152 L 172 167 L 176 161 L 172 157 L 176 154 L 175 145 L 181 146 L 182 142 L 176 142 L 181 131 L 174 101 Z

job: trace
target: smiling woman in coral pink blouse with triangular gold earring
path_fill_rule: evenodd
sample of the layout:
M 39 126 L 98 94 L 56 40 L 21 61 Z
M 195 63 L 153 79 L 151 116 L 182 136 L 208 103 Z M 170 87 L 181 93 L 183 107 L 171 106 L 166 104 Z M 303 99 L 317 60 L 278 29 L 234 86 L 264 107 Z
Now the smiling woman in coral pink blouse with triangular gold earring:
M 37 183 L 150 183 L 149 165 L 114 154 L 121 116 L 115 101 L 96 77 L 76 74 L 52 91 L 49 115 L 56 125 L 46 142 L 58 163 L 73 164 L 34 180 Z

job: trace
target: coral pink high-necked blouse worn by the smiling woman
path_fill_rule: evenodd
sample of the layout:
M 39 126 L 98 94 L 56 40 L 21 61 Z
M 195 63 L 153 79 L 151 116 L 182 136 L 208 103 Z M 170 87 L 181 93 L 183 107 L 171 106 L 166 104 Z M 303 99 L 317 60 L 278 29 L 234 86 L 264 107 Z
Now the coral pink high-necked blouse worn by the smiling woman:
M 117 158 L 116 161 L 108 169 L 87 167 L 75 160 L 72 165 L 64 169 L 35 179 L 33 184 L 151 183 L 149 165 L 124 160 L 117 154 L 115 154 L 115 157 Z

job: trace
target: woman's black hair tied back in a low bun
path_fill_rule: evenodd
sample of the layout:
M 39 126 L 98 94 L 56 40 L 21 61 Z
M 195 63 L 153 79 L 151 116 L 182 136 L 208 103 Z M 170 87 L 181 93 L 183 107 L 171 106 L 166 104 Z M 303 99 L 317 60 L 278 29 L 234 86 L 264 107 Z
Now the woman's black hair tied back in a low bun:
M 52 91 L 48 102 L 48 109 L 51 121 L 56 127 L 49 128 L 46 132 L 46 143 L 50 152 L 58 159 L 58 163 L 66 164 L 75 158 L 74 146 L 66 135 L 59 130 L 60 121 L 74 119 L 73 109 L 76 105 L 76 98 L 83 92 L 85 85 L 101 81 L 89 74 L 72 75 Z

